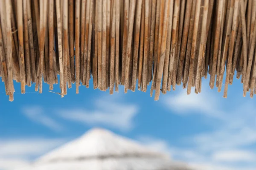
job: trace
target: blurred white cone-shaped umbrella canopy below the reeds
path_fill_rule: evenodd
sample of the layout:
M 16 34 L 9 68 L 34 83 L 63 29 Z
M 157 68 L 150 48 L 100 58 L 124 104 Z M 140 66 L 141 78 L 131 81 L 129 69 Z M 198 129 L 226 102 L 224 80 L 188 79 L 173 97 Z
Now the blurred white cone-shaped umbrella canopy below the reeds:
M 93 129 L 22 170 L 186 170 L 169 156 L 108 130 Z

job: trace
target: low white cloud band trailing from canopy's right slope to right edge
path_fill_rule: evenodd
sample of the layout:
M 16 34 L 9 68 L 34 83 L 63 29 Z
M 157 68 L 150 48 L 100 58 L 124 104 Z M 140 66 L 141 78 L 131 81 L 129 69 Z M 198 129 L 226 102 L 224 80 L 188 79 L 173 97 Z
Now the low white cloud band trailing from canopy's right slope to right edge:
M 254 170 L 255 153 L 247 150 L 216 151 L 213 155 L 207 155 L 197 148 L 174 147 L 163 139 L 156 139 L 151 136 L 139 136 L 137 138 L 145 146 L 168 152 L 174 162 L 186 164 L 191 170 Z M 186 162 L 186 163 L 184 163 Z M 247 166 L 239 165 L 238 162 L 250 163 Z M 231 163 L 231 164 L 228 164 Z M 232 165 L 232 163 L 236 163 Z

